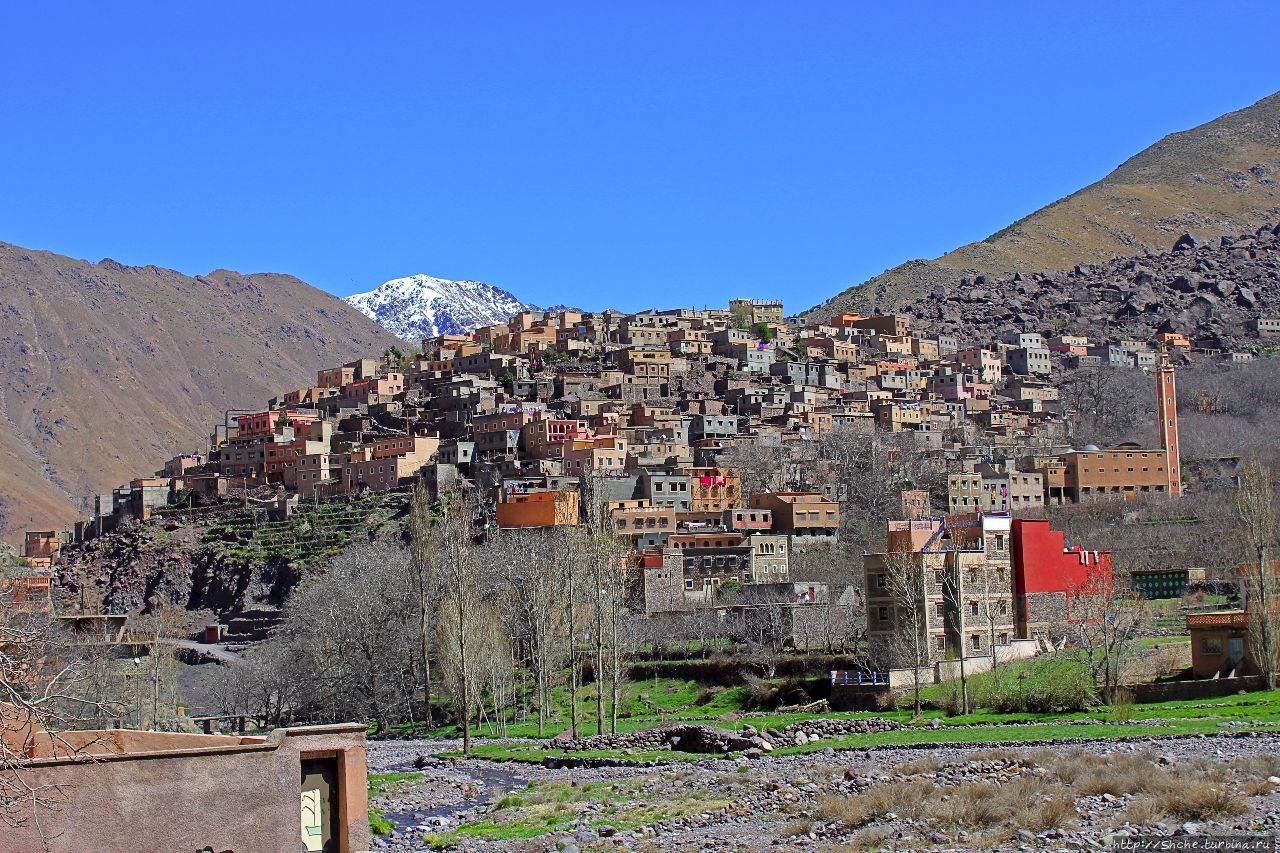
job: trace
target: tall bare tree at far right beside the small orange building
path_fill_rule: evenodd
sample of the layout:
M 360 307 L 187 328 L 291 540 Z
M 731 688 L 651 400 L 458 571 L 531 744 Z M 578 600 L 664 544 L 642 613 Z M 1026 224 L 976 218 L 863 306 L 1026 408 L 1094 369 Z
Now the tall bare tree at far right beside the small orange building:
M 1276 540 L 1280 512 L 1276 507 L 1275 478 L 1257 456 L 1242 465 L 1240 487 L 1235 496 L 1240 532 L 1252 560 L 1242 570 L 1242 587 L 1249 619 L 1249 651 L 1268 688 L 1276 685 L 1280 660 L 1280 608 L 1276 607 L 1275 569 L 1271 549 Z

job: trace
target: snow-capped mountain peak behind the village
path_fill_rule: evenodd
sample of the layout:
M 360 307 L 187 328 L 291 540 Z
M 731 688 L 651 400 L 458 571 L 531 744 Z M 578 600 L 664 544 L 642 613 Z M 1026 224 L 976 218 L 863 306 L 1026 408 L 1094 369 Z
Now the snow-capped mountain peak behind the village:
M 393 278 L 347 302 L 404 341 L 463 334 L 532 309 L 484 282 L 452 282 L 434 275 Z

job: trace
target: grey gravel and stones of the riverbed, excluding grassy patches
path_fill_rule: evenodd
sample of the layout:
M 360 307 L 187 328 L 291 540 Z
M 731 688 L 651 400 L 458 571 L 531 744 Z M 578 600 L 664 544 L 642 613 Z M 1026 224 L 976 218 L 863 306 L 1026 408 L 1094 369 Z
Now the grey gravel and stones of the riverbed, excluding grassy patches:
M 1028 760 L 1038 745 L 924 745 L 869 751 L 823 749 L 804 756 L 771 756 L 754 761 L 707 758 L 662 767 L 549 768 L 536 765 L 495 763 L 476 760 L 440 760 L 435 756 L 457 749 L 457 742 L 371 742 L 370 772 L 413 770 L 421 765 L 422 779 L 376 798 L 371 804 L 394 816 L 394 835 L 375 838 L 374 849 L 428 849 L 422 834 L 457 827 L 484 818 L 493 803 L 527 783 L 614 781 L 635 785 L 636 806 L 690 802 L 698 795 L 708 811 L 658 820 L 637 829 L 593 829 L 604 820 L 598 803 L 586 806 L 571 831 L 548 833 L 520 841 L 467 839 L 466 849 L 480 850 L 759 850 L 835 849 L 854 839 L 860 829 L 823 824 L 814 817 L 818 799 L 854 795 L 879 783 L 928 779 L 937 785 L 969 781 L 1000 784 L 1038 768 Z M 1093 753 L 1151 754 L 1157 765 L 1231 761 L 1257 754 L 1280 753 L 1280 735 L 1224 731 L 1193 738 L 1146 738 L 1125 742 L 1092 740 L 1055 744 L 1052 749 L 1084 749 Z M 1091 795 L 1076 799 L 1079 820 L 1069 829 L 1033 833 L 1019 830 L 1005 847 L 1010 850 L 1105 849 L 1135 834 L 1196 835 L 1210 833 L 1280 831 L 1280 785 L 1271 793 L 1251 797 L 1248 811 L 1219 822 L 1181 822 L 1133 827 L 1121 822 L 1126 795 Z M 806 825 L 800 825 L 800 824 Z M 888 815 L 868 827 L 883 835 L 883 849 L 992 849 L 978 836 L 946 835 Z M 804 831 L 800 831 L 804 830 Z M 795 835 L 790 833 L 797 833 Z

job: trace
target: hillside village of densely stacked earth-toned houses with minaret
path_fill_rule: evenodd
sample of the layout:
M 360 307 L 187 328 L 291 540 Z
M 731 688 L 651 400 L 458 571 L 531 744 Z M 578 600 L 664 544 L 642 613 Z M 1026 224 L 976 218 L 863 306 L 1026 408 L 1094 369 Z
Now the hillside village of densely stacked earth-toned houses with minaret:
M 479 494 L 497 529 L 577 526 L 603 514 L 595 523 L 630 548 L 634 607 L 653 619 L 701 608 L 749 615 L 768 603 L 786 613 L 772 629 L 777 642 L 831 647 L 865 630 L 870 648 L 883 640 L 872 667 L 901 667 L 902 649 L 890 648 L 899 602 L 884 566 L 906 551 L 918 573 L 928 566 L 937 576 L 922 665 L 937 670 L 957 653 L 989 658 L 992 649 L 1034 654 L 1053 642 L 1068 593 L 1108 575 L 1111 557 L 1018 516 L 1180 496 L 1188 475 L 1175 366 L 1247 361 L 1280 337 L 1275 318 L 1249 325 L 1251 338 L 1222 351 L 1167 328 L 1089 339 L 1011 327 L 975 341 L 906 315 L 805 323 L 787 318 L 781 301 L 522 311 L 426 338 L 415 355 L 389 348 L 323 369 L 312 386 L 259 411 L 229 411 L 200 452 L 96 498 L 74 532 L 28 534 L 27 553 L 74 585 L 81 551 L 122 526 L 165 517 L 207 525 L 237 506 L 283 523 L 311 506 L 421 484 L 433 500 Z M 1152 397 L 1158 389 L 1158 443 L 1074 447 L 1075 412 L 1061 387 L 1115 369 L 1148 374 Z M 869 462 L 877 455 L 887 460 L 878 469 Z M 300 558 L 346 540 L 316 525 Z M 840 547 L 867 555 L 858 558 L 865 576 L 794 578 L 797 564 Z M 979 565 L 998 571 L 980 594 Z M 1185 567 L 1171 570 L 1184 589 Z M 1161 573 L 1139 580 L 1167 594 Z M 122 606 L 93 583 L 78 589 L 82 605 L 87 596 L 95 608 Z M 242 589 L 211 606 L 234 624 L 262 603 Z

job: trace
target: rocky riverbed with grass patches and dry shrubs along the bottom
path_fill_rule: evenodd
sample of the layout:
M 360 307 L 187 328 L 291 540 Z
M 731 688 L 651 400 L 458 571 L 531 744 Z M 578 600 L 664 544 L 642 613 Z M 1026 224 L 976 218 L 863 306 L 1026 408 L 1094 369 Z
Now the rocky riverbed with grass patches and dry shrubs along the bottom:
M 1280 833 L 1280 735 L 956 745 L 553 768 L 374 742 L 375 849 L 1105 849 L 1138 834 Z

